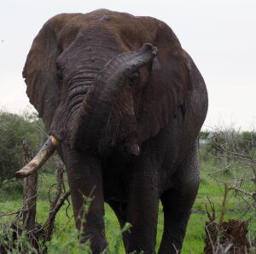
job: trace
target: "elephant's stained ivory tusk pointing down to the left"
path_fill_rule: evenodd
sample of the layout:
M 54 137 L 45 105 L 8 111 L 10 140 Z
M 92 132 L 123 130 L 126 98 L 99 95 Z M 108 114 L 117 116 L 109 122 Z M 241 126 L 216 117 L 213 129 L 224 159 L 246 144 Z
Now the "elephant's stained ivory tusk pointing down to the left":
M 49 136 L 49 139 L 44 143 L 38 154 L 21 170 L 15 173 L 18 178 L 30 176 L 34 171 L 38 170 L 49 157 L 55 152 L 56 147 L 60 146 L 61 142 L 55 136 Z

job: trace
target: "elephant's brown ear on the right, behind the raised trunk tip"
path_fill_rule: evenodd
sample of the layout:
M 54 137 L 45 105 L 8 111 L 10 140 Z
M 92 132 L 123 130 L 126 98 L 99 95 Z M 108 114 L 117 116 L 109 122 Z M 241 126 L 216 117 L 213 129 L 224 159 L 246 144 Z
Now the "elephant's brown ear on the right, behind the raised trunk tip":
M 148 66 L 148 84 L 141 96 L 137 114 L 138 141 L 156 136 L 177 116 L 184 118 L 190 80 L 183 49 L 172 29 L 160 20 L 139 17 L 144 43 L 158 48 L 158 54 Z M 146 41 L 145 41 L 146 40 Z

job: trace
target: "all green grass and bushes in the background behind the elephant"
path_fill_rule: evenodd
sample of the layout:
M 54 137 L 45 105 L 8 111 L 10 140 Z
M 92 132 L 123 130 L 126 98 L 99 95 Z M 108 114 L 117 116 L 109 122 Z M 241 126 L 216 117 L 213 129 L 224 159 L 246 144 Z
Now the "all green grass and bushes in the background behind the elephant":
M 44 126 L 35 116 L 0 113 L 0 243 L 4 240 L 4 228 L 9 228 L 9 223 L 16 216 L 5 215 L 19 211 L 22 206 L 22 182 L 13 178 L 14 172 L 23 165 L 22 141 L 26 138 L 29 147 L 36 152 L 45 136 Z M 229 187 L 229 192 L 225 201 L 224 220 L 247 220 L 247 238 L 253 244 L 256 237 L 256 133 L 236 130 L 205 131 L 201 132 L 200 144 L 201 185 L 189 220 L 182 253 L 203 252 L 205 222 L 209 220 L 206 205 L 209 207 L 210 200 L 214 204 L 217 219 L 222 216 L 225 186 Z M 65 182 L 67 185 L 66 176 Z M 50 187 L 54 184 L 55 167 L 54 162 L 51 162 L 40 170 L 38 176 L 37 222 L 44 223 L 47 219 L 49 197 L 54 191 Z M 105 207 L 109 252 L 125 253 L 118 221 L 109 206 Z M 129 230 L 129 225 L 123 230 Z M 157 248 L 162 232 L 163 211 L 160 205 Z M 73 223 L 72 206 L 66 202 L 56 216 L 53 238 L 48 243 L 49 253 L 79 253 L 81 248 L 88 251 L 87 245 L 78 246 L 78 234 Z M 22 244 L 26 245 L 26 240 Z M 27 250 L 33 253 L 32 248 Z

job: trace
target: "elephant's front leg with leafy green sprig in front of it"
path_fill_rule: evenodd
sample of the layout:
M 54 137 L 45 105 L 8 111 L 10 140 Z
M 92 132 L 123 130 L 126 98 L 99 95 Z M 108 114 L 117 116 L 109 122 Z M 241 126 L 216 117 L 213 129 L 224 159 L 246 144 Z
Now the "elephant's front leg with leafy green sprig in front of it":
M 92 252 L 101 253 L 108 246 L 103 222 L 101 165 L 96 158 L 75 152 L 69 152 L 66 165 L 79 241 L 83 244 L 90 240 Z

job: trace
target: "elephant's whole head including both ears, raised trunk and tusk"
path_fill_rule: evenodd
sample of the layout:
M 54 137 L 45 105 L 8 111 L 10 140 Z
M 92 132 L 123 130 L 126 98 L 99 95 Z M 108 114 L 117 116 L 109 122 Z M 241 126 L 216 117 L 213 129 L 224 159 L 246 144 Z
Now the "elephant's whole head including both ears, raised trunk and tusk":
M 169 26 L 107 10 L 50 19 L 32 43 L 23 77 L 50 137 L 17 176 L 31 174 L 61 142 L 136 156 L 185 108 L 189 90 L 183 49 Z

